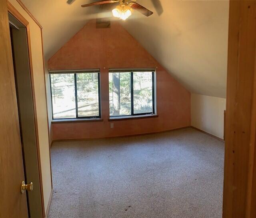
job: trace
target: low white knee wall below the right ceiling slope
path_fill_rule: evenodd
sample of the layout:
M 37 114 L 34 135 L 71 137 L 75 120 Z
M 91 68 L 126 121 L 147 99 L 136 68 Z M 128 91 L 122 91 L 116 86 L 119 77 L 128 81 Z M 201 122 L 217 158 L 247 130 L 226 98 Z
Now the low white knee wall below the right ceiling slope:
M 226 98 L 191 94 L 191 126 L 223 139 Z

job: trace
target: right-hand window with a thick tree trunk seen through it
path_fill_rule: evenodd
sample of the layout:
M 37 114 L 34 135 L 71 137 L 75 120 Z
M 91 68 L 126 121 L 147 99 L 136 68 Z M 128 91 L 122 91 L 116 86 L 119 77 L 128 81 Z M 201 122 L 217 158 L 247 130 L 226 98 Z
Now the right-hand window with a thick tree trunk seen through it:
M 154 114 L 154 101 L 154 71 L 110 70 L 110 116 Z

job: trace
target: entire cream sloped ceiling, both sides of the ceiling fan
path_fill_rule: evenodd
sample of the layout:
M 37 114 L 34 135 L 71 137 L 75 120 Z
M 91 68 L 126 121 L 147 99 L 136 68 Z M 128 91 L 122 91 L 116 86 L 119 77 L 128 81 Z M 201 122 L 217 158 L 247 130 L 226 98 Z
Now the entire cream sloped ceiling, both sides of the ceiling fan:
M 88 20 L 98 7 L 81 8 L 94 0 L 22 0 L 43 26 L 46 61 Z M 138 0 L 154 12 L 134 12 L 121 24 L 174 78 L 197 94 L 226 97 L 228 0 L 161 0 L 159 16 L 150 0 Z

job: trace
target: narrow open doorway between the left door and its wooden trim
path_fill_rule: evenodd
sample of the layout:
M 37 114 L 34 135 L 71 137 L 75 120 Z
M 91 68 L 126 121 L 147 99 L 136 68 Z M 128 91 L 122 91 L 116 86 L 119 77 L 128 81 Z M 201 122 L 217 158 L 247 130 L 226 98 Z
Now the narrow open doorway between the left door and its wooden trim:
M 33 183 L 33 190 L 27 192 L 28 216 L 42 217 L 42 188 L 40 186 L 42 183 L 39 176 L 39 150 L 37 148 L 36 114 L 30 74 L 27 27 L 12 14 L 9 13 L 8 16 L 25 172 L 24 182 L 25 184 Z

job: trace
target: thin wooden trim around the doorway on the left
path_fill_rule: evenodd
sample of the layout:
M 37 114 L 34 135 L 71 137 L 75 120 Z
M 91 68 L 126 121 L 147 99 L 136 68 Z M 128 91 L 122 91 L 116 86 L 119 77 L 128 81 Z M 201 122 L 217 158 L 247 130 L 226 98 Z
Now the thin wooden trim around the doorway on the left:
M 30 28 L 29 22 L 14 8 L 14 6 L 7 1 L 7 9 L 14 18 L 16 18 L 20 23 L 26 27 L 27 32 L 27 43 L 28 43 L 28 59 L 29 59 L 29 68 L 30 68 L 30 83 L 32 88 L 32 101 L 34 108 L 34 125 L 36 133 L 36 150 L 37 150 L 37 159 L 38 159 L 38 170 L 39 170 L 39 181 L 40 181 L 40 193 L 41 193 L 41 206 L 42 206 L 42 217 L 45 217 L 45 208 L 44 208 L 44 193 L 43 193 L 43 184 L 42 184 L 42 169 L 40 161 L 40 147 L 39 147 L 39 136 L 38 136 L 38 124 L 37 124 L 37 114 L 36 114 L 36 98 L 35 98 L 35 88 L 34 88 L 34 74 L 32 66 L 32 53 L 31 53 L 31 44 L 30 44 Z M 49 132 L 49 131 L 48 131 Z

